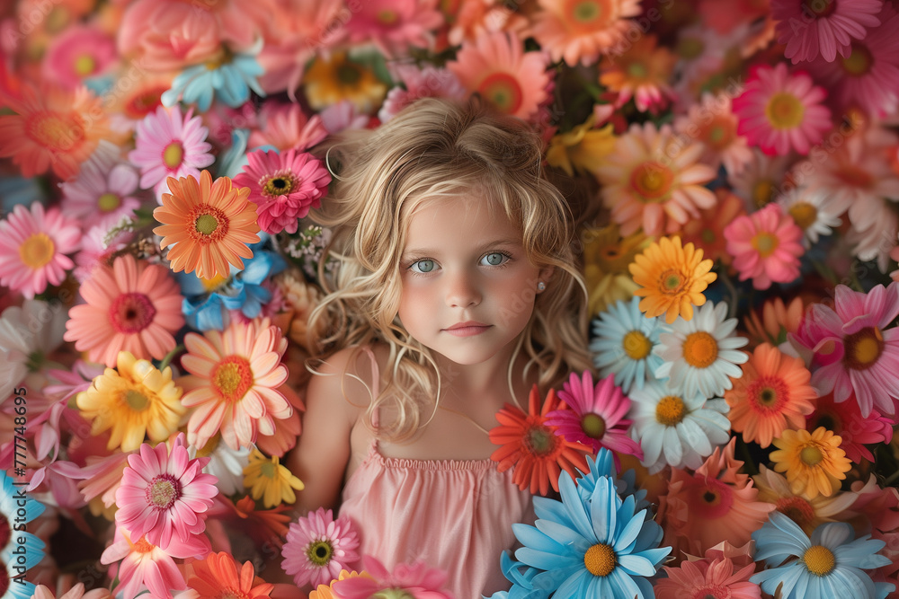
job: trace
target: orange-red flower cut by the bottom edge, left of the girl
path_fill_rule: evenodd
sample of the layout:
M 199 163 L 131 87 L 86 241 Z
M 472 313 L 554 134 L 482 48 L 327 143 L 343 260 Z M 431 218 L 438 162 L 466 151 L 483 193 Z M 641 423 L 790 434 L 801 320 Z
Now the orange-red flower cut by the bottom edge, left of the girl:
M 193 574 L 187 586 L 200 597 L 240 597 L 263 599 L 271 596 L 274 585 L 256 582 L 252 561 L 245 561 L 237 569 L 236 560 L 225 551 L 209 553 L 206 559 L 191 563 Z

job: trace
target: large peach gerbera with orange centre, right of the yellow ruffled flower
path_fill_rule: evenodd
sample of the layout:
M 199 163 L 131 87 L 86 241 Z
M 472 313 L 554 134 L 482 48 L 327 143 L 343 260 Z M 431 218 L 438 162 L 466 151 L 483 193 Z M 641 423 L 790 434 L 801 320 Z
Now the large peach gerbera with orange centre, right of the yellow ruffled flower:
M 194 408 L 187 423 L 191 445 L 202 447 L 221 431 L 232 449 L 254 443 L 257 432 L 274 433 L 274 419 L 289 418 L 289 401 L 278 387 L 287 380 L 281 358 L 287 339 L 263 322 L 231 322 L 227 328 L 208 330 L 204 336 L 188 333 L 184 369 L 178 379 L 182 402 Z

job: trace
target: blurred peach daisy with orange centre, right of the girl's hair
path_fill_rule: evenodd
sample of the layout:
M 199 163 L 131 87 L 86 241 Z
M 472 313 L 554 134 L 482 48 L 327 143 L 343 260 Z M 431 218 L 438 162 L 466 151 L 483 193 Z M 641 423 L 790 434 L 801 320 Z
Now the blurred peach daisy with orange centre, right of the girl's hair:
M 615 140 L 614 151 L 595 168 L 602 201 L 621 234 L 641 226 L 647 235 L 675 233 L 699 208 L 715 206 L 715 194 L 703 187 L 715 171 L 699 163 L 703 145 L 674 136 L 672 128 L 636 123 Z

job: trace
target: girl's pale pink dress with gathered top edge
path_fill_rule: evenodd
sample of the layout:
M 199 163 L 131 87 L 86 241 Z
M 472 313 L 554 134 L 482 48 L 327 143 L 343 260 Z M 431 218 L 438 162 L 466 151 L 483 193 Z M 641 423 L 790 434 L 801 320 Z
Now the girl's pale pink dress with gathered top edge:
M 343 487 L 340 514 L 360 532 L 360 555 L 389 569 L 423 561 L 446 570 L 457 599 L 492 595 L 510 586 L 500 553 L 515 543 L 512 524 L 533 522 L 530 493 L 496 465 L 385 457 L 373 440 Z

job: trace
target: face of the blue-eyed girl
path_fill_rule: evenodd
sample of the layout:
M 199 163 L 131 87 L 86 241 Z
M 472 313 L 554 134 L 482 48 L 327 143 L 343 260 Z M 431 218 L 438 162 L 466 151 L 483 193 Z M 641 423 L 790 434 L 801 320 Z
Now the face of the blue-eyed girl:
M 400 321 L 459 365 L 511 350 L 530 321 L 539 281 L 552 274 L 530 263 L 518 227 L 477 196 L 415 208 L 400 260 Z

